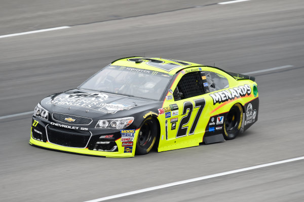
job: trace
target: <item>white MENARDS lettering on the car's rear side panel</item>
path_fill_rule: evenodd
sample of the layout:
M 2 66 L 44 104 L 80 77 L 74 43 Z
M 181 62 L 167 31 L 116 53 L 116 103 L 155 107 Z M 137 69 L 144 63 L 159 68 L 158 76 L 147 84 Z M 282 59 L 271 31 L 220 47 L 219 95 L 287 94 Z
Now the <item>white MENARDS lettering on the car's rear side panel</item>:
M 213 99 L 213 105 L 216 103 L 222 103 L 226 102 L 228 100 L 233 100 L 235 97 L 244 97 L 245 95 L 250 95 L 251 94 L 251 88 L 249 85 L 245 84 L 244 86 L 239 86 L 233 89 L 229 90 L 223 90 L 220 92 L 216 92 L 213 94 L 210 94 L 210 96 Z

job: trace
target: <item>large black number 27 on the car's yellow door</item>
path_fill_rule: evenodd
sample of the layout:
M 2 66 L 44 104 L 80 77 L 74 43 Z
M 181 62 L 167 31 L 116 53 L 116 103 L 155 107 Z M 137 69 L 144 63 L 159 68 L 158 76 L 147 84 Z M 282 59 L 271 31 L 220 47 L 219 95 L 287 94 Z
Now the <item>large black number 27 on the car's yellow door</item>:
M 188 126 L 185 126 L 185 125 L 187 125 L 189 123 L 193 109 L 199 107 L 199 110 L 198 110 L 197 114 L 195 115 L 192 126 L 188 132 L 188 135 L 194 134 L 194 131 L 197 127 L 197 124 L 199 122 L 203 109 L 205 107 L 206 101 L 204 98 L 197 99 L 197 100 L 194 100 L 194 104 L 195 104 L 195 106 L 193 107 L 193 103 L 190 101 L 185 101 L 183 103 L 183 109 L 182 109 L 181 115 L 185 115 L 187 113 L 187 111 L 188 111 L 188 113 L 180 119 L 180 123 L 179 123 L 178 130 L 176 133 L 176 138 L 184 137 L 187 135 Z

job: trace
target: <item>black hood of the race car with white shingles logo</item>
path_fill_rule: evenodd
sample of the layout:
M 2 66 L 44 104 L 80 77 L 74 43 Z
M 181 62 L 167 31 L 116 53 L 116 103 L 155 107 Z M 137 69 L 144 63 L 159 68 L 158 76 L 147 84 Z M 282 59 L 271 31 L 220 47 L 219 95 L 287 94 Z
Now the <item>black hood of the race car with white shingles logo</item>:
M 49 96 L 42 100 L 42 106 L 52 112 L 97 118 L 130 115 L 156 107 L 159 101 L 118 94 L 72 89 Z M 132 109 L 131 111 L 129 111 Z

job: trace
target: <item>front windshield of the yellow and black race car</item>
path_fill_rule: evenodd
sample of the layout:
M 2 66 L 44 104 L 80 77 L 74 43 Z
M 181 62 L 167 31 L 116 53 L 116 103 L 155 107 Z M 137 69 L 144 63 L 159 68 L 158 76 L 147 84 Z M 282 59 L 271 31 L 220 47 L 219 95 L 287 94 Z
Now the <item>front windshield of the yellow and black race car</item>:
M 109 65 L 80 88 L 159 100 L 171 78 L 158 71 Z

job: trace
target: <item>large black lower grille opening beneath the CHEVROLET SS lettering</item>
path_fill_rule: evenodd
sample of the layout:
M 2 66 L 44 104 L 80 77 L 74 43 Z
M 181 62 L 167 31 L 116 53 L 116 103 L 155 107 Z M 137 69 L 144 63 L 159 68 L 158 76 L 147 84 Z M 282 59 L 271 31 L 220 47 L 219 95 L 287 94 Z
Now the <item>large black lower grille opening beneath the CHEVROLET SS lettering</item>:
M 86 148 L 91 137 L 88 131 L 58 129 L 54 126 L 47 126 L 47 135 L 49 142 L 53 144 L 77 148 Z

